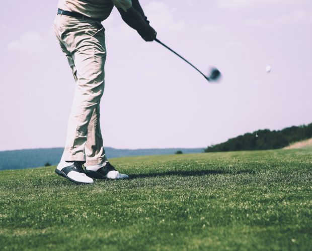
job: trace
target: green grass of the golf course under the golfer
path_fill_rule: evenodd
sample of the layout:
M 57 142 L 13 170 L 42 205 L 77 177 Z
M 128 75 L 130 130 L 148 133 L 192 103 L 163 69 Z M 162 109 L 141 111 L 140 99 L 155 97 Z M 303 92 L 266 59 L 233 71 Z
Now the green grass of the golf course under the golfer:
M 111 159 L 129 180 L 0 172 L 0 249 L 311 250 L 311 149 Z

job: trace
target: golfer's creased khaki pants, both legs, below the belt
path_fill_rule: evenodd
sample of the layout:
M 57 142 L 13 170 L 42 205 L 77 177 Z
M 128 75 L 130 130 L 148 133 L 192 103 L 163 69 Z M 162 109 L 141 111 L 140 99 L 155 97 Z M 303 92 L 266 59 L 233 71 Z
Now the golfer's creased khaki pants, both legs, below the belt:
M 100 22 L 57 15 L 54 31 L 75 79 L 62 161 L 106 162 L 100 128 L 100 99 L 106 60 L 104 27 Z

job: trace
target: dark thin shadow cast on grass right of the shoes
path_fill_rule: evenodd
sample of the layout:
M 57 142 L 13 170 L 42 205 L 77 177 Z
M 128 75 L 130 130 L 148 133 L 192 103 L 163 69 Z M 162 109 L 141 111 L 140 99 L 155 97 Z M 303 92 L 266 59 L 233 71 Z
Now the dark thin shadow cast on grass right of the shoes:
M 161 173 L 146 173 L 146 174 L 130 174 L 130 179 L 148 178 L 148 177 L 162 177 L 162 176 L 203 176 L 203 175 L 214 175 L 224 174 L 227 172 L 220 170 L 202 170 L 202 171 L 168 171 Z

